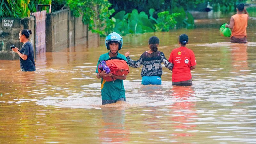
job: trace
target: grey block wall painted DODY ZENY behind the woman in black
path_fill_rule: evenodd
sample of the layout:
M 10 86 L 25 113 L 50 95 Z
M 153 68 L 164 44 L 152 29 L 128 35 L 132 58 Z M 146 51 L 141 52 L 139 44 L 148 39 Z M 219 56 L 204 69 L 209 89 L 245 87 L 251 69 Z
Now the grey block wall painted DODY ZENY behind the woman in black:
M 0 60 L 18 59 L 18 54 L 13 53 L 10 46 L 13 44 L 18 48 L 22 47 L 19 40 L 21 29 L 30 29 L 29 41 L 34 45 L 35 51 L 35 18 L 0 18 Z

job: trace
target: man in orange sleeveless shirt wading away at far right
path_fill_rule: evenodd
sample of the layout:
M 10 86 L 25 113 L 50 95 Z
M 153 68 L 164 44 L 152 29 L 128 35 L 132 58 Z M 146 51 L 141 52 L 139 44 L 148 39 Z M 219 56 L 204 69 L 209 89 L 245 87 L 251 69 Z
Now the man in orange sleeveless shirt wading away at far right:
M 238 4 L 236 10 L 237 14 L 230 18 L 230 23 L 226 24 L 225 27 L 232 29 L 231 43 L 247 43 L 246 27 L 249 20 L 248 12 L 244 8 L 244 4 Z

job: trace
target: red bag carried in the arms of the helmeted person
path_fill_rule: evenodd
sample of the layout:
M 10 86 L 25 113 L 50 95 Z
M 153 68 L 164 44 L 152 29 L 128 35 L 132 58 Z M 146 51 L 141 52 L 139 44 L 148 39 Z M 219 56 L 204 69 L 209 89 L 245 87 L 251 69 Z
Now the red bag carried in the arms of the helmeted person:
M 111 57 L 108 60 L 105 61 L 107 66 L 110 69 L 110 73 L 116 76 L 126 76 L 129 73 L 129 67 L 127 62 L 118 57 Z M 98 67 L 98 72 L 101 73 L 103 70 Z M 112 76 L 103 77 L 107 82 L 114 81 Z

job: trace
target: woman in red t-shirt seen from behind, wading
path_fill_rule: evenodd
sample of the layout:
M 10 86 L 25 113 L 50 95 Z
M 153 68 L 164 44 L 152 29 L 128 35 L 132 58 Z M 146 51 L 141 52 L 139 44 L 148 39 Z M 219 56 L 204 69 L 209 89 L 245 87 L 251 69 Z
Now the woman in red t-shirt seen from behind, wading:
M 179 36 L 180 47 L 173 49 L 169 62 L 173 63 L 172 85 L 189 86 L 192 85 L 191 70 L 196 68 L 196 59 L 194 52 L 188 49 L 188 35 Z

